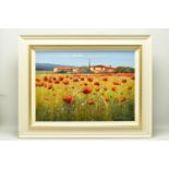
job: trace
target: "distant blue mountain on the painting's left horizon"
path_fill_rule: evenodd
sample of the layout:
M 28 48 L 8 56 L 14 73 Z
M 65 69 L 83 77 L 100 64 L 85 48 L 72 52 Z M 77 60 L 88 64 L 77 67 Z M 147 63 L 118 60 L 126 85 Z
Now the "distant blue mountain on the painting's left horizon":
M 51 63 L 36 63 L 36 71 L 52 71 L 53 68 L 59 68 L 59 67 L 72 67 L 72 65 L 51 64 Z

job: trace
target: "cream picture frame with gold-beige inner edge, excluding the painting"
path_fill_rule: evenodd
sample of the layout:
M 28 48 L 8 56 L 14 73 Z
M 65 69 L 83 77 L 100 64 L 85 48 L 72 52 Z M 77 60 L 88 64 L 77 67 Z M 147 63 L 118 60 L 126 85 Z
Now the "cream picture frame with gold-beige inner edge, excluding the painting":
M 152 38 L 113 35 L 23 35 L 19 39 L 19 136 L 20 137 L 149 137 L 152 136 Z M 35 50 L 57 48 L 107 48 L 134 50 L 137 56 L 136 99 L 140 117 L 130 122 L 50 122 L 37 123 L 34 112 Z

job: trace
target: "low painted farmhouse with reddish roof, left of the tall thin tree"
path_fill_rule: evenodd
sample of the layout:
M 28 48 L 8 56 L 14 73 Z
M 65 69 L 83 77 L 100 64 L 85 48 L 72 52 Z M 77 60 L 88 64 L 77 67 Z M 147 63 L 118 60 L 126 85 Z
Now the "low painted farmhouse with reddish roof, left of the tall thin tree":
M 53 68 L 52 70 L 55 73 L 79 73 L 80 69 L 79 68 L 71 68 L 71 67 L 59 67 L 59 68 Z

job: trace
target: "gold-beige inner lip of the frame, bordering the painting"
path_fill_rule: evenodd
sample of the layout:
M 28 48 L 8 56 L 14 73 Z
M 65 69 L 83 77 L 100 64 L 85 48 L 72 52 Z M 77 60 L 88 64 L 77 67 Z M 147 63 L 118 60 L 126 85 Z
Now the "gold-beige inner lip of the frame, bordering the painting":
M 142 126 L 142 113 L 141 113 L 141 105 L 142 98 L 140 98 L 140 112 L 138 112 L 138 121 L 36 121 L 35 120 L 35 111 L 33 111 L 33 82 L 32 74 L 35 73 L 33 71 L 33 57 L 35 57 L 36 51 L 136 51 L 140 52 L 140 58 L 142 58 L 142 45 L 29 45 L 28 46 L 28 58 L 29 58 L 29 128 L 31 129 L 56 129 L 56 128 L 123 128 L 123 129 L 140 129 Z M 135 56 L 134 56 L 135 58 Z M 34 62 L 35 64 L 35 62 Z M 142 61 L 140 59 L 140 96 L 141 96 L 141 81 L 142 81 Z M 136 69 L 136 68 L 135 68 Z M 136 84 L 136 83 L 135 83 Z M 35 104 L 35 102 L 34 102 Z

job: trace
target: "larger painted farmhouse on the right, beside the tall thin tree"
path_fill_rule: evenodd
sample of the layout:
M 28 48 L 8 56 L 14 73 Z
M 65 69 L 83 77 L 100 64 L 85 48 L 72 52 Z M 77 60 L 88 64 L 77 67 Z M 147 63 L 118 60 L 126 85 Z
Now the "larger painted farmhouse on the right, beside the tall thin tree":
M 111 65 L 90 65 L 90 71 L 94 73 L 113 73 L 114 69 Z

